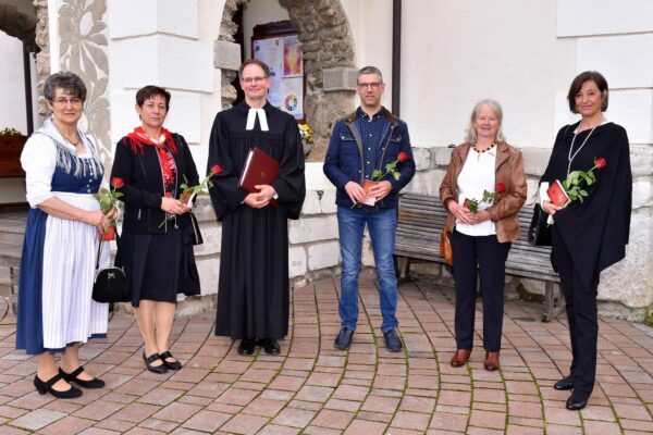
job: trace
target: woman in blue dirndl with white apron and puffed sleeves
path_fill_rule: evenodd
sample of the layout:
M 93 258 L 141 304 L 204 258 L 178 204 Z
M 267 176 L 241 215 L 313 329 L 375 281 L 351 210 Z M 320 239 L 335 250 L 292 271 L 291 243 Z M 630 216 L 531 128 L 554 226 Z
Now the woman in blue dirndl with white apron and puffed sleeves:
M 34 385 L 40 394 L 69 399 L 82 396 L 71 383 L 104 386 L 84 370 L 79 346 L 107 336 L 109 306 L 91 294 L 98 236 L 116 211 L 104 215 L 93 197 L 103 167 L 95 140 L 77 126 L 86 86 L 75 74 L 57 73 L 46 79 L 44 95 L 52 117 L 32 135 L 21 156 L 30 209 L 19 278 L 16 349 L 38 355 Z M 108 263 L 104 248 L 100 265 Z

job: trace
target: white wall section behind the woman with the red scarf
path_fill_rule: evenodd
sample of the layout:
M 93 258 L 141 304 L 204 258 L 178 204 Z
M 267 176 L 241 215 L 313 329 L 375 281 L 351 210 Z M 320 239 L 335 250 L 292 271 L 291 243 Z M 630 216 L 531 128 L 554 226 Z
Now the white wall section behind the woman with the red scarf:
M 223 7 L 223 0 L 189 0 L 183 8 L 172 0 L 108 0 L 113 142 L 140 124 L 136 91 L 145 85 L 163 86 L 172 95 L 165 127 L 186 138 L 204 171 L 211 125 L 220 110 L 213 44 Z

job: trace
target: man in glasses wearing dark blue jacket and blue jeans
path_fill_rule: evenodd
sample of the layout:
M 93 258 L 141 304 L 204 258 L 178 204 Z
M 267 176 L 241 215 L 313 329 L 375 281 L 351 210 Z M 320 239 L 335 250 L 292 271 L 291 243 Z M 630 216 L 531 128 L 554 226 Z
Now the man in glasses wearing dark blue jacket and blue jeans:
M 408 126 L 381 105 L 385 91 L 381 71 L 374 66 L 358 71 L 357 91 L 360 107 L 335 123 L 324 159 L 324 174 L 337 189 L 343 261 L 338 304 L 342 327 L 334 346 L 348 349 L 356 330 L 358 272 L 367 224 L 379 278 L 381 332 L 387 349 L 398 352 L 403 344 L 396 331 L 397 279 L 393 263 L 397 194 L 415 175 L 415 162 Z

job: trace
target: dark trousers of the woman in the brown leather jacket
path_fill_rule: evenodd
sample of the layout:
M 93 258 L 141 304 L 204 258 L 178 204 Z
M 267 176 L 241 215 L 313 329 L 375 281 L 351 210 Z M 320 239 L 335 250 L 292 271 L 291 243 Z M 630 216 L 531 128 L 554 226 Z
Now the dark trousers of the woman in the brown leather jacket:
M 455 229 L 451 241 L 456 279 L 456 347 L 471 349 L 473 345 L 477 273 L 480 273 L 483 348 L 497 352 L 501 350 L 506 259 L 512 244 L 500 244 L 496 236 L 468 236 Z

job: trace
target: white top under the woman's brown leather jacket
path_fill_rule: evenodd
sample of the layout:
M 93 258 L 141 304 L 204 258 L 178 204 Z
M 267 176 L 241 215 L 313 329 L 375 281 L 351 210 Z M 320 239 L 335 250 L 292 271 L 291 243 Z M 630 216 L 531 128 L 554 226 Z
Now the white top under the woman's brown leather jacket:
M 477 152 L 473 148 L 470 148 L 457 181 L 458 203 L 460 206 L 465 203 L 465 198 L 479 200 L 479 211 L 492 206 L 490 202 L 480 200 L 483 198 L 483 190 L 496 190 L 495 166 L 496 147 L 485 152 Z M 491 236 L 496 234 L 496 225 L 491 220 L 476 225 L 457 221 L 456 231 L 468 236 Z

